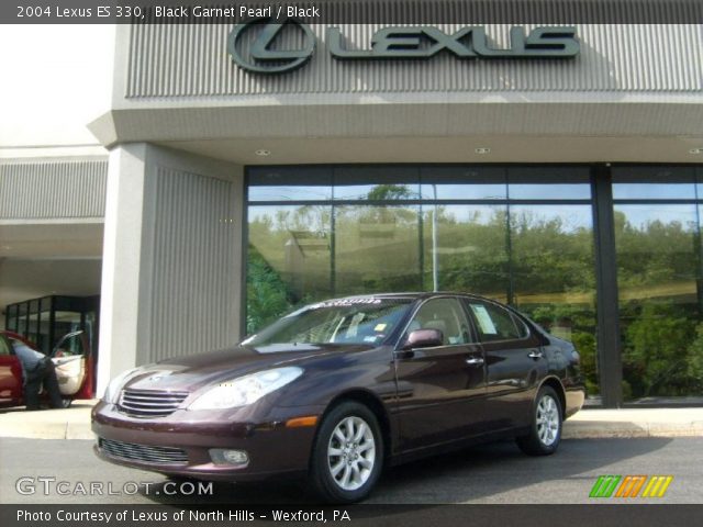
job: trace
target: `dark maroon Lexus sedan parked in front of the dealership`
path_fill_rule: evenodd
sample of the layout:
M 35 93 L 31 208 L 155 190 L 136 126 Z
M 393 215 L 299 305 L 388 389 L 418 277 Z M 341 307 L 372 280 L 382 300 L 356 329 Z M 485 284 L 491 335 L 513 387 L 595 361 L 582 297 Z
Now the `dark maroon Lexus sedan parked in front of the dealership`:
M 381 469 L 505 436 L 553 453 L 583 404 L 579 355 L 520 313 L 454 293 L 303 307 L 239 346 L 114 379 L 96 452 L 203 480 L 308 476 L 327 501 L 369 494 Z

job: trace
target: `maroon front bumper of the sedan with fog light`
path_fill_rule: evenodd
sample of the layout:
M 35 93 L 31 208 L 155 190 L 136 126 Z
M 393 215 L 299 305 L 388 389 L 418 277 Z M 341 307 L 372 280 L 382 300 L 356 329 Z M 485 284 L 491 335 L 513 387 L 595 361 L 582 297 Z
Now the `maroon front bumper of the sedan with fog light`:
M 92 430 L 100 439 L 119 441 L 126 455 L 94 446 L 96 455 L 112 463 L 169 475 L 208 481 L 257 481 L 281 475 L 303 475 L 308 471 L 316 426 L 289 428 L 288 419 L 316 415 L 324 408 L 282 408 L 265 421 L 253 419 L 249 408 L 219 412 L 177 410 L 166 417 L 138 418 L 101 401 L 92 413 Z M 155 447 L 155 448 L 154 448 Z M 217 464 L 211 448 L 244 450 L 245 466 Z M 155 461 L 152 451 L 179 450 L 178 461 Z M 147 453 L 144 453 L 147 452 Z M 178 458 L 181 458 L 177 456 Z

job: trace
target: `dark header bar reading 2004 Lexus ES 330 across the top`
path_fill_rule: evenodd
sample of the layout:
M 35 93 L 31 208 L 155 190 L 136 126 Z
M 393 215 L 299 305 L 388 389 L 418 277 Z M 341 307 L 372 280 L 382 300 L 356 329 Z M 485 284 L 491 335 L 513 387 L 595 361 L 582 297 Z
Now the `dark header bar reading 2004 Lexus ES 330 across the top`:
M 3 0 L 1 24 L 701 24 L 701 0 Z

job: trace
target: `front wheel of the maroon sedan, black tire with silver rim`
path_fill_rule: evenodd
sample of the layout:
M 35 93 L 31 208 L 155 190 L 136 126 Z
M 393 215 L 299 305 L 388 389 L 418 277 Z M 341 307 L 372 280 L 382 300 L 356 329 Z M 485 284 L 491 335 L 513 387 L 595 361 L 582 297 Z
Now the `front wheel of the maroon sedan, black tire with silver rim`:
M 348 430 L 345 425 L 349 423 L 355 434 L 353 440 L 345 444 L 335 431 L 338 427 L 341 434 L 342 429 Z M 333 450 L 339 455 L 332 455 Z M 330 503 L 364 500 L 376 485 L 382 466 L 383 437 L 373 412 L 355 401 L 345 401 L 332 408 L 320 425 L 311 455 L 310 483 L 315 494 Z

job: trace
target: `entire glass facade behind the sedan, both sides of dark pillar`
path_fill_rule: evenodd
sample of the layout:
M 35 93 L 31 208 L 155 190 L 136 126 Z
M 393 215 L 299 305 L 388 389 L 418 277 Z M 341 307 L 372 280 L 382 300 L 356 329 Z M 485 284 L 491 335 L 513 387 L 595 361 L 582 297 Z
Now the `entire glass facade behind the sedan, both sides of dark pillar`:
M 247 178 L 248 333 L 334 296 L 467 291 L 573 341 L 591 397 L 599 358 L 622 365 L 611 368 L 622 383 L 607 384 L 617 404 L 703 396 L 703 169 L 257 167 Z M 596 187 L 607 189 L 598 202 Z M 596 229 L 603 204 L 612 218 Z M 604 232 L 614 247 L 599 247 Z M 616 301 L 596 294 L 598 251 L 613 255 L 600 269 L 616 277 Z M 598 313 L 620 346 L 599 347 Z

